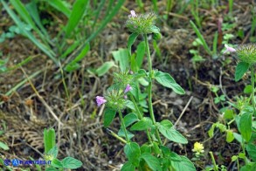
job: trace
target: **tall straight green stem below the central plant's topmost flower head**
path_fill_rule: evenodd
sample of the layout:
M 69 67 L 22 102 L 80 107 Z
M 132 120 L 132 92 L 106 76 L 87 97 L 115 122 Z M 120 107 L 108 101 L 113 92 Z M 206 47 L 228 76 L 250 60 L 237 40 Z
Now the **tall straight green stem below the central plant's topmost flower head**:
M 144 34 L 143 37 L 144 37 L 145 44 L 146 44 L 146 52 L 147 52 L 148 65 L 149 65 L 149 87 L 148 87 L 149 114 L 150 114 L 151 120 L 153 121 L 153 124 L 156 127 L 156 119 L 155 119 L 155 115 L 154 115 L 154 112 L 153 112 L 153 105 L 152 105 L 152 77 L 153 77 L 153 72 L 152 72 L 152 61 L 151 61 L 150 51 L 149 51 L 149 40 L 148 40 L 147 34 Z M 163 142 L 160 138 L 160 134 L 159 134 L 157 128 L 156 128 L 156 138 L 157 138 L 158 142 L 161 145 L 163 145 Z

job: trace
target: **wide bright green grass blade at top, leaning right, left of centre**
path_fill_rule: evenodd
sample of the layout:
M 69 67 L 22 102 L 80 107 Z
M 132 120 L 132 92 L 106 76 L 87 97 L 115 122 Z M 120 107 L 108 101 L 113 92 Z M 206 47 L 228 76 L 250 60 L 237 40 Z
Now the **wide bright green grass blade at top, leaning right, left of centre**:
M 88 0 L 77 0 L 73 4 L 73 10 L 66 24 L 66 38 L 69 38 L 76 26 L 79 24 L 80 19 L 83 17 L 86 10 Z

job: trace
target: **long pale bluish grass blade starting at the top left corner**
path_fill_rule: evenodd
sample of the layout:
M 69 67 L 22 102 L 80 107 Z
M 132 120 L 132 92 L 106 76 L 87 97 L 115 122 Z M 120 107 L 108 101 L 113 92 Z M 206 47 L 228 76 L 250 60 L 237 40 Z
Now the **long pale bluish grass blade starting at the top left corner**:
M 17 15 L 13 12 L 13 10 L 10 10 L 9 6 L 7 5 L 7 3 L 5 3 L 3 0 L 1 0 L 1 2 L 3 3 L 3 7 L 4 9 L 9 13 L 10 17 L 13 19 L 13 21 L 17 24 L 17 26 L 19 27 L 19 29 L 22 31 L 22 33 L 24 34 L 24 36 L 26 36 L 27 38 L 29 38 L 31 40 L 31 42 L 33 42 L 34 44 L 36 44 L 38 46 L 38 48 L 41 51 L 44 51 L 45 54 L 52 58 L 52 60 L 58 64 L 58 60 L 55 58 L 55 53 L 47 48 L 47 46 L 45 46 L 45 44 L 42 44 L 38 41 L 37 38 L 34 37 L 34 35 L 31 33 L 31 31 L 27 31 L 24 29 L 24 24 L 19 20 L 19 18 L 17 17 Z

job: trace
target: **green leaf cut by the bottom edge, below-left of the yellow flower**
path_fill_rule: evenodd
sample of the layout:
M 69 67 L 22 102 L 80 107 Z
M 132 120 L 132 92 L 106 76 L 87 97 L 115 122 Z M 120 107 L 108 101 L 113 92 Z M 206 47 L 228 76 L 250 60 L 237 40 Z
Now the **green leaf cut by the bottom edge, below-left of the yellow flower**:
M 170 161 L 171 166 L 177 171 L 196 171 L 194 164 L 185 156 L 180 156 L 181 161 Z

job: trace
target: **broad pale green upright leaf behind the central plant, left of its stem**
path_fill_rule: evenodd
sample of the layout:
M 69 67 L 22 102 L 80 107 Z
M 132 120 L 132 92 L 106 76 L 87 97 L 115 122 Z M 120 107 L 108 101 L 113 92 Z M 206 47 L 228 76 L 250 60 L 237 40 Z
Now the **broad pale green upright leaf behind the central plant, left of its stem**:
M 121 72 L 125 72 L 129 67 L 128 50 L 120 48 L 118 51 L 112 51 L 114 60 L 119 63 Z

